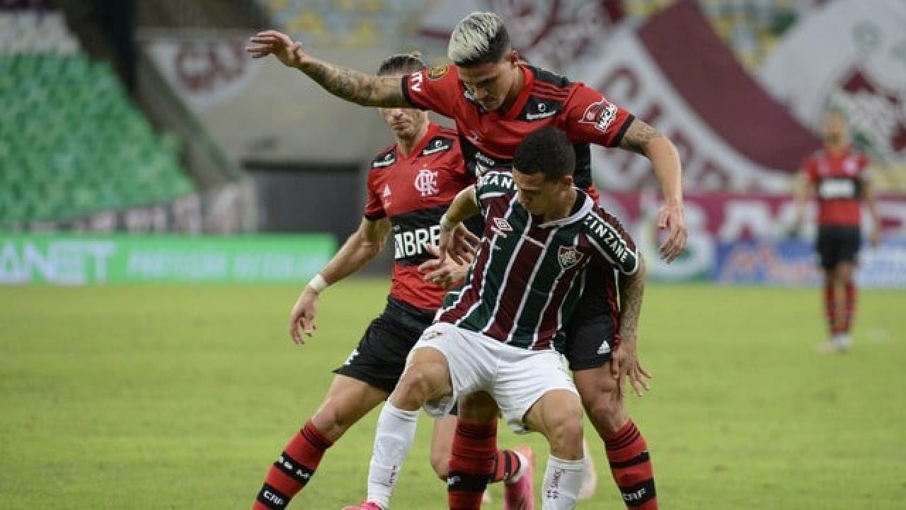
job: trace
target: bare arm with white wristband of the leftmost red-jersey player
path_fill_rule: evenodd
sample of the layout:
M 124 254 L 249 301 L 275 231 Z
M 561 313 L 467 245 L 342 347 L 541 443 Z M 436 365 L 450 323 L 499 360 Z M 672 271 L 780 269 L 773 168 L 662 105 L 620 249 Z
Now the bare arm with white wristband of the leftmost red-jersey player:
M 304 344 L 302 332 L 311 337 L 314 326 L 314 315 L 317 312 L 318 295 L 332 283 L 336 283 L 357 270 L 365 267 L 381 253 L 390 233 L 390 221 L 383 218 L 379 221 L 363 219 L 342 248 L 333 255 L 320 273 L 305 286 L 299 299 L 296 299 L 290 311 L 289 334 L 297 344 Z M 299 329 L 302 329 L 300 332 Z

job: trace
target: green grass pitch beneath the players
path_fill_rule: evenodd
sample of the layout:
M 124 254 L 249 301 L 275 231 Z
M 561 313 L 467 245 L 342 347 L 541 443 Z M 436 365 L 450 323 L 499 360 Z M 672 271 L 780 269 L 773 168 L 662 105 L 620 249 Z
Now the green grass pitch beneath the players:
M 329 289 L 304 347 L 286 332 L 298 286 L 0 288 L 0 507 L 249 508 L 265 470 L 321 401 L 383 306 L 387 282 Z M 906 297 L 863 291 L 855 348 L 821 356 L 817 289 L 651 285 L 629 397 L 668 510 L 906 505 Z M 364 494 L 373 412 L 325 456 L 290 508 Z M 394 508 L 445 508 L 430 422 Z M 580 508 L 622 508 L 600 481 Z M 501 427 L 500 444 L 544 439 Z M 501 505 L 499 487 L 492 491 Z

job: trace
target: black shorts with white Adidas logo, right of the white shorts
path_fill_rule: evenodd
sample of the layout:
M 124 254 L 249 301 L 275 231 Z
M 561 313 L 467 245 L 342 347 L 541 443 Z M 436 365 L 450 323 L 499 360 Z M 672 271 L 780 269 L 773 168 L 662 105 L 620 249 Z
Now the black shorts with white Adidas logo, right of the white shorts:
M 607 289 L 612 289 L 610 299 Z M 613 277 L 589 267 L 582 297 L 564 328 L 563 353 L 573 372 L 599 368 L 611 360 L 611 352 L 618 343 L 615 297 Z

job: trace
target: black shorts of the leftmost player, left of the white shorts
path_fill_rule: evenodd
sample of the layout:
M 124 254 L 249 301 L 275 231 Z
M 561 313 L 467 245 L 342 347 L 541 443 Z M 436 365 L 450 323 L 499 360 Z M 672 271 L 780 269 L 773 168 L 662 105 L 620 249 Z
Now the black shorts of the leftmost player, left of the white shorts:
M 387 308 L 371 321 L 358 347 L 342 367 L 333 370 L 391 393 L 406 367 L 406 357 L 431 325 L 434 312 L 388 298 Z

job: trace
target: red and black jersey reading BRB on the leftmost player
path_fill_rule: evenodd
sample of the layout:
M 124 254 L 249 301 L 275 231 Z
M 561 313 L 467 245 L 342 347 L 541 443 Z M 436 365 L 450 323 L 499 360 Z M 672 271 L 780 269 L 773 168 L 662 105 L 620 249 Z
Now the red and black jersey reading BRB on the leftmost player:
M 456 132 L 433 123 L 410 154 L 394 144 L 371 160 L 365 218 L 386 217 L 392 225 L 391 297 L 419 309 L 439 308 L 446 290 L 423 280 L 418 267 L 430 258 L 424 245 L 438 244 L 440 216 L 472 181 Z

